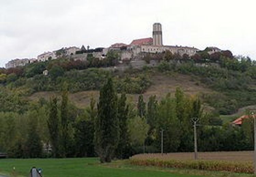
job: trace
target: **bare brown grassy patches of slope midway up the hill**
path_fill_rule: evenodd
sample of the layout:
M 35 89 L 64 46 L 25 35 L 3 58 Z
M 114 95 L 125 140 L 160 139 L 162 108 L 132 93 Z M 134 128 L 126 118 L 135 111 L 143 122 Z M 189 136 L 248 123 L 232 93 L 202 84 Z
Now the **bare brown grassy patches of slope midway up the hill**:
M 177 87 L 181 87 L 186 94 L 199 94 L 199 93 L 211 93 L 211 89 L 207 88 L 204 84 L 199 83 L 193 76 L 183 75 L 179 73 L 167 76 L 164 74 L 156 74 L 151 78 L 152 85 L 143 94 L 145 101 L 151 95 L 156 95 L 157 99 L 160 100 L 165 97 L 166 94 L 174 94 Z M 49 99 L 53 95 L 59 95 L 57 92 L 37 92 L 27 97 L 28 100 L 38 100 L 39 98 Z M 71 93 L 69 99 L 79 108 L 85 108 L 90 102 L 90 98 L 94 97 L 96 100 L 99 97 L 99 91 L 82 91 Z M 139 94 L 128 94 L 128 99 L 132 102 L 138 100 Z

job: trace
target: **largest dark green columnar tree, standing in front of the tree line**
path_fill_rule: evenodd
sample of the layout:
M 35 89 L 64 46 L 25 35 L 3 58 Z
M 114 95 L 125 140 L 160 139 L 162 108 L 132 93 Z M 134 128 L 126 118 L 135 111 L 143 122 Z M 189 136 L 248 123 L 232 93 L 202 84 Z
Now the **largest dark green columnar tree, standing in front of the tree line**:
M 95 119 L 95 150 L 102 163 L 112 160 L 118 141 L 117 94 L 112 79 L 108 78 L 100 89 L 98 115 Z

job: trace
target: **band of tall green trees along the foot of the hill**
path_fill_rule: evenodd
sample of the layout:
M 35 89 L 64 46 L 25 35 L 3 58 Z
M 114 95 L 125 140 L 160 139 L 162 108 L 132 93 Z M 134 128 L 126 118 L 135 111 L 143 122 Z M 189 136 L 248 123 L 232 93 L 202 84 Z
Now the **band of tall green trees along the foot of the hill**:
M 91 98 L 85 109 L 68 99 L 67 86 L 61 97 L 40 99 L 23 112 L 0 112 L 0 151 L 9 157 L 100 157 L 101 162 L 128 158 L 143 152 L 160 152 L 163 130 L 164 152 L 193 151 L 193 124 L 199 118 L 200 151 L 250 150 L 253 148 L 252 123 L 241 127 L 222 124 L 213 113 L 203 110 L 197 96 L 175 94 L 161 100 L 152 95 L 137 104 L 117 94 L 108 77 L 100 89 L 99 100 Z

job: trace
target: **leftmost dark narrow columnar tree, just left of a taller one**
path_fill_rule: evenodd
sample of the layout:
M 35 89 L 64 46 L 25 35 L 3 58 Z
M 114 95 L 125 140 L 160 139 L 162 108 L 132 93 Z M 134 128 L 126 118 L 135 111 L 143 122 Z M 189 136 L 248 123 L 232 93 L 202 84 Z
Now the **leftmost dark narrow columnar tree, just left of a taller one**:
M 49 118 L 47 120 L 47 125 L 49 129 L 49 134 L 50 134 L 53 157 L 58 157 L 59 155 L 59 119 L 58 119 L 58 108 L 57 108 L 56 97 L 53 97 L 50 100 L 50 111 L 49 111 Z

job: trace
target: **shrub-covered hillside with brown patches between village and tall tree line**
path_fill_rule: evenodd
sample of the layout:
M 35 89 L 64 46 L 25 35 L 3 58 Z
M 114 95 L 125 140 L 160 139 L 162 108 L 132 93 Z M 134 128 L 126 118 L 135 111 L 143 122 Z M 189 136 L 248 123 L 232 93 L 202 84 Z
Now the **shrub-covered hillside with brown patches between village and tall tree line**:
M 214 65 L 161 61 L 158 67 L 126 71 L 87 66 L 77 68 L 77 63 L 55 60 L 6 70 L 7 75 L 0 73 L 0 86 L 2 92 L 11 91 L 30 101 L 40 97 L 48 99 L 58 94 L 66 84 L 70 100 L 77 107 L 84 108 L 91 96 L 98 98 L 101 85 L 112 76 L 117 92 L 125 92 L 132 102 L 137 101 L 139 94 L 143 94 L 146 100 L 150 95 L 156 95 L 159 100 L 167 93 L 172 94 L 176 87 L 181 87 L 187 94 L 199 95 L 210 110 L 230 115 L 255 104 L 256 66 L 249 59 L 222 60 Z M 41 74 L 43 69 L 49 70 L 48 76 Z M 4 99 L 3 104 L 6 104 Z

